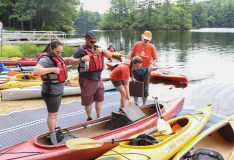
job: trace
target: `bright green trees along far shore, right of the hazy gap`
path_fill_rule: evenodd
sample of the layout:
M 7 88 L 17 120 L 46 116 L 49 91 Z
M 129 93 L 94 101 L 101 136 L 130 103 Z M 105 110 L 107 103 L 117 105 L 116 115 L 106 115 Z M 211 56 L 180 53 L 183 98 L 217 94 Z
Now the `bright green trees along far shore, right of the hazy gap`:
M 110 0 L 99 29 L 188 30 L 192 27 L 234 27 L 234 1 Z M 159 3 L 160 2 L 160 3 Z

